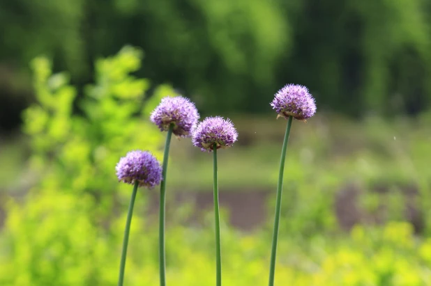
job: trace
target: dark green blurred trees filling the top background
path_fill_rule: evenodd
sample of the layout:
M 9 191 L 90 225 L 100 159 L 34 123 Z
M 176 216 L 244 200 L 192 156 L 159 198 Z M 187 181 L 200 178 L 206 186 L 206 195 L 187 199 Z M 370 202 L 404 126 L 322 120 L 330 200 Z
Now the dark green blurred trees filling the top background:
M 147 54 L 140 76 L 169 81 L 204 113 L 269 111 L 289 82 L 354 116 L 415 114 L 431 102 L 427 0 L 0 3 L 0 67 L 14 67 L 13 78 L 45 53 L 83 86 L 95 58 L 130 43 Z

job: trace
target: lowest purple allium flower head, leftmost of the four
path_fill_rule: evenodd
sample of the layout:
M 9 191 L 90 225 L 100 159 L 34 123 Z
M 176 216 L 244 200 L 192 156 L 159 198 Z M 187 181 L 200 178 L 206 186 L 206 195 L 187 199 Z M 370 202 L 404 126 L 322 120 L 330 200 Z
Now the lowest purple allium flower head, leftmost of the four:
M 128 184 L 139 182 L 139 186 L 152 188 L 162 180 L 162 167 L 156 157 L 148 151 L 133 150 L 121 157 L 115 167 L 119 181 Z

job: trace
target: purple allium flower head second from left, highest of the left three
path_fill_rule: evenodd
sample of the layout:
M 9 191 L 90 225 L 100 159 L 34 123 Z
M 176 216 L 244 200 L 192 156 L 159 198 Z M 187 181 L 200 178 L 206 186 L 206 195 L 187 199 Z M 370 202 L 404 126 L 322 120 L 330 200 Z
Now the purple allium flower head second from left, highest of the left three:
M 176 136 L 188 137 L 197 125 L 199 113 L 195 104 L 186 97 L 164 97 L 150 119 L 161 131 L 167 131 L 173 123 Z

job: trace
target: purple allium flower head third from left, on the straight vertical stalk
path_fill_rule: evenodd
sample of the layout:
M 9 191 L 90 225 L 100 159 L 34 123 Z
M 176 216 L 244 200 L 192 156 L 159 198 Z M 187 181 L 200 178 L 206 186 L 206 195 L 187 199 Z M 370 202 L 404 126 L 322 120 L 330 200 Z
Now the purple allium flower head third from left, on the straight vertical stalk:
M 238 132 L 229 119 L 220 116 L 207 117 L 197 125 L 192 135 L 193 145 L 211 152 L 214 143 L 219 148 L 229 148 L 238 138 Z

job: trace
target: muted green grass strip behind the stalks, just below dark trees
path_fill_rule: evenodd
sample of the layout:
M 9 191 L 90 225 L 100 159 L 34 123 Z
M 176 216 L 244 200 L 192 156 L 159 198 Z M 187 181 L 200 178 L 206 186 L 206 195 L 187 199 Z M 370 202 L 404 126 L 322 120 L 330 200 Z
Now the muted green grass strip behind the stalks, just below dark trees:
M 273 189 L 277 181 L 285 120 L 233 118 L 239 141 L 219 152 L 220 190 Z M 294 121 L 285 182 L 307 175 L 360 182 L 418 182 L 430 178 L 428 118 L 361 122 L 321 116 Z M 183 191 L 211 191 L 211 154 L 189 139 L 172 143 L 169 184 Z M 187 178 L 186 180 L 184 178 Z M 331 178 L 329 178 L 331 180 Z

